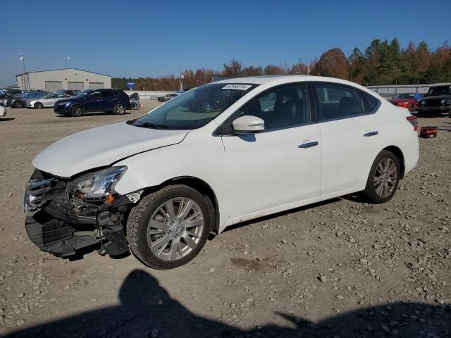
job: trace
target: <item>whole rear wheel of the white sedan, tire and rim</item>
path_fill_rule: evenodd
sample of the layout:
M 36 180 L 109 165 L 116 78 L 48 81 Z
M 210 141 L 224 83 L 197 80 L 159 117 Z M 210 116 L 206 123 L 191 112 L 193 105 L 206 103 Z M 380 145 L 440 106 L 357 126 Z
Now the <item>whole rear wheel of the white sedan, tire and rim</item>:
M 400 161 L 391 151 L 383 150 L 374 160 L 364 194 L 374 204 L 390 201 L 400 182 Z

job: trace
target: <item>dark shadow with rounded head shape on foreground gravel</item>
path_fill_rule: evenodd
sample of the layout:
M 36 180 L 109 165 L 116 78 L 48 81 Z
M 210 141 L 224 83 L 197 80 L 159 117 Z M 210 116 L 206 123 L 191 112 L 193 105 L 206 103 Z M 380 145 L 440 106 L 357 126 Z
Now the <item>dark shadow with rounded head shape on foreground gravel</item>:
M 450 307 L 421 303 L 373 306 L 320 323 L 278 313 L 292 327 L 240 330 L 191 313 L 142 270 L 128 275 L 119 299 L 118 306 L 12 332 L 8 337 L 451 337 Z

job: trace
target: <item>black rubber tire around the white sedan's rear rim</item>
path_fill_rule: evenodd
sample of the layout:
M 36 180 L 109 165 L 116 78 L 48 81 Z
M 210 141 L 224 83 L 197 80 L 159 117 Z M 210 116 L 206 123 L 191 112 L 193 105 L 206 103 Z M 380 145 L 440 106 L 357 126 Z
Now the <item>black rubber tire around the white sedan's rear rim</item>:
M 391 187 L 393 187 L 393 190 L 388 194 L 388 196 L 381 196 L 376 192 L 374 177 L 376 174 L 376 170 L 378 170 L 378 165 L 384 161 L 385 159 L 390 159 L 393 161 L 393 163 L 396 166 L 396 178 L 395 178 L 395 184 L 391 184 Z M 398 158 L 393 154 L 391 151 L 383 150 L 381 151 L 376 159 L 373 162 L 373 165 L 371 166 L 371 170 L 369 171 L 368 180 L 366 181 L 366 187 L 364 190 L 364 195 L 367 199 L 373 204 L 381 204 L 385 203 L 387 201 L 390 201 L 392 197 L 395 195 L 395 192 L 397 190 L 397 186 L 400 182 L 400 161 Z M 382 183 L 381 183 L 382 184 Z

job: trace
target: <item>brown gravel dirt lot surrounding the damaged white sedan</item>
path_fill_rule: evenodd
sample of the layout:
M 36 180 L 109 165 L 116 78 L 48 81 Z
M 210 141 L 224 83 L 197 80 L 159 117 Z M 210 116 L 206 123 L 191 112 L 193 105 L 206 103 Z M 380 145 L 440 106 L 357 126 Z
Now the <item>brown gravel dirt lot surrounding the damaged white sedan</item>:
M 387 204 L 350 196 L 249 222 L 170 271 L 133 256 L 39 251 L 22 206 L 32 158 L 142 112 L 9 108 L 0 118 L 0 335 L 451 337 L 451 118 L 419 119 L 438 125 L 438 137 L 420 139 L 418 168 Z

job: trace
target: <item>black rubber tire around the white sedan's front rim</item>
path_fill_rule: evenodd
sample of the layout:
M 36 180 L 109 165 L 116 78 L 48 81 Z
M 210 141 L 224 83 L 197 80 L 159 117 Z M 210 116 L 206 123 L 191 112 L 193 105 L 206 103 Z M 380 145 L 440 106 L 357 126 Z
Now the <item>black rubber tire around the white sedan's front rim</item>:
M 149 221 L 159 208 L 171 199 L 187 198 L 194 201 L 202 211 L 204 219 L 202 234 L 197 245 L 186 256 L 173 261 L 157 257 L 150 249 L 147 239 Z M 133 207 L 127 220 L 127 240 L 130 251 L 145 265 L 158 270 L 177 268 L 191 261 L 205 245 L 214 222 L 214 213 L 208 199 L 197 190 L 183 184 L 163 187 L 158 192 L 145 196 L 140 204 Z

